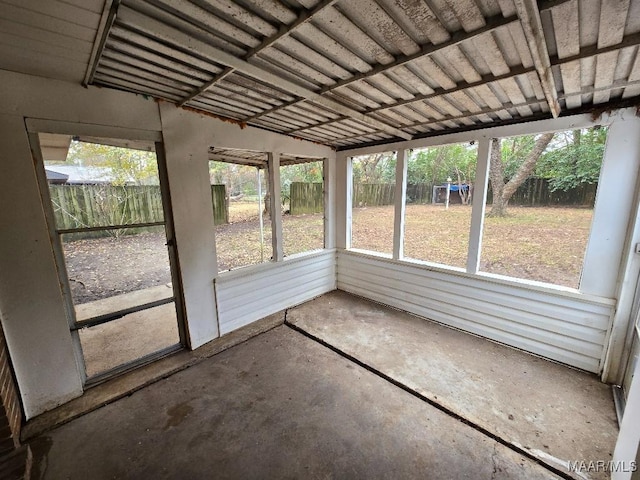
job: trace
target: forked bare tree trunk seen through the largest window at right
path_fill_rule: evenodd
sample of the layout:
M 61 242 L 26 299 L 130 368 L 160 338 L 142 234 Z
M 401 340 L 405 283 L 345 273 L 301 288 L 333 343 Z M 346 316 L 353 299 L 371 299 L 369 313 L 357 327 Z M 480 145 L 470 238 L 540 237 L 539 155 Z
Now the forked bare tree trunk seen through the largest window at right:
M 506 182 L 501 141 L 499 138 L 491 140 L 489 180 L 491 181 L 491 190 L 493 191 L 493 205 L 489 216 L 504 217 L 507 215 L 509 200 L 518 187 L 533 173 L 538 159 L 553 139 L 553 136 L 553 133 L 540 135 L 535 140 L 532 148 L 526 153 L 524 161 Z

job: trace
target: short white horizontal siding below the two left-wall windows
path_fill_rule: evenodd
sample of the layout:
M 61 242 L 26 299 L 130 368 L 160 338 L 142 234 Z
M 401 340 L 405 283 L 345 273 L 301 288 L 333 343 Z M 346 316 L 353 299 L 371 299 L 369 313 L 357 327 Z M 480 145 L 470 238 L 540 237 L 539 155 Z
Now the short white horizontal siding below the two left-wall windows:
M 336 289 L 335 250 L 265 263 L 216 279 L 220 334 Z

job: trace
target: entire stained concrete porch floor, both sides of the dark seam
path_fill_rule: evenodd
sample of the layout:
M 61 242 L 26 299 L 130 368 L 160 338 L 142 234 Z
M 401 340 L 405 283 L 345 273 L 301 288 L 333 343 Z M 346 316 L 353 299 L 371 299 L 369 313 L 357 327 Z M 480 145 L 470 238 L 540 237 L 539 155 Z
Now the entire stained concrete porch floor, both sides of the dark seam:
M 341 292 L 287 324 L 36 437 L 34 478 L 536 479 L 610 458 L 590 375 Z

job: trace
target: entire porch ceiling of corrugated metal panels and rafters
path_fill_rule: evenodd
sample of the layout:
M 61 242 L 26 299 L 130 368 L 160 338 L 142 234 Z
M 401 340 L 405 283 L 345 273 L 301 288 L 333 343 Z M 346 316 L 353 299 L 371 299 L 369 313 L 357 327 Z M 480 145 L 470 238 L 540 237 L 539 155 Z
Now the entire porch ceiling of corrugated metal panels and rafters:
M 338 149 L 640 95 L 640 0 L 0 4 L 0 68 L 150 95 Z

